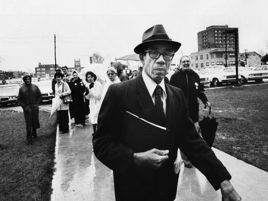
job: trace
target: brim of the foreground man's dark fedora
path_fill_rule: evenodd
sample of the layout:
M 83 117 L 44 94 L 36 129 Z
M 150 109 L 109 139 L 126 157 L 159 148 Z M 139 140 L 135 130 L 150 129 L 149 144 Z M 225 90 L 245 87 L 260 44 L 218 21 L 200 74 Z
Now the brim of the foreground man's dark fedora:
M 139 45 L 137 45 L 135 48 L 134 48 L 134 52 L 136 54 L 140 54 L 142 53 L 144 50 L 146 50 L 146 48 L 150 45 L 150 44 L 153 44 L 155 42 L 163 42 L 165 44 L 168 44 L 168 45 L 171 45 L 172 48 L 173 48 L 173 51 L 174 53 L 177 52 L 180 47 L 181 47 L 181 43 L 179 42 L 176 42 L 176 41 L 171 41 L 171 40 L 163 40 L 163 39 L 157 39 L 157 40 L 150 40 L 150 41 L 146 41 L 146 42 L 143 42 L 143 43 L 140 43 Z

